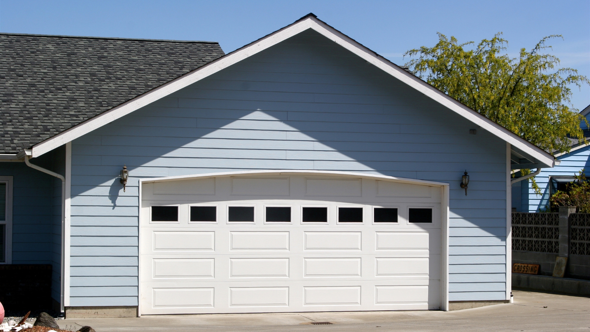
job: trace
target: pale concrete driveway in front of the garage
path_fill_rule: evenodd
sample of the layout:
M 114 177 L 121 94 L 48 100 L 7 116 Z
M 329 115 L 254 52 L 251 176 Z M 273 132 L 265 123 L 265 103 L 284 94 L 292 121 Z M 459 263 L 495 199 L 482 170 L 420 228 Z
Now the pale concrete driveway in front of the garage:
M 76 331 L 590 331 L 590 298 L 513 291 L 514 304 L 459 311 L 365 313 L 158 315 L 141 318 L 72 318 L 58 321 Z M 546 308 L 545 308 L 546 307 Z M 314 325 L 312 322 L 332 324 Z

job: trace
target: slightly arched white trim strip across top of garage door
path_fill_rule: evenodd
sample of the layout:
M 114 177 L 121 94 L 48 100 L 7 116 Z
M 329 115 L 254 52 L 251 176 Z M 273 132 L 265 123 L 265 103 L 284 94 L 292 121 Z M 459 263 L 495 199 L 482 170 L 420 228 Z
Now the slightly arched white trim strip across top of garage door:
M 312 174 L 312 175 L 338 175 L 340 177 L 361 177 L 370 178 L 373 180 L 395 181 L 399 183 L 420 184 L 430 186 L 445 186 L 450 185 L 444 182 L 417 180 L 415 178 L 399 178 L 390 177 L 388 175 L 367 174 L 357 172 L 341 172 L 341 171 L 316 171 L 316 170 L 264 170 L 264 171 L 237 171 L 237 172 L 219 172 L 219 173 L 205 173 L 194 175 L 178 175 L 175 177 L 160 177 L 160 178 L 141 178 L 140 183 L 153 183 L 165 181 L 179 181 L 179 180 L 195 180 L 198 178 L 210 177 L 231 177 L 234 175 L 294 175 L 294 174 Z

